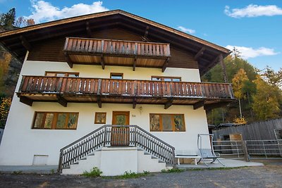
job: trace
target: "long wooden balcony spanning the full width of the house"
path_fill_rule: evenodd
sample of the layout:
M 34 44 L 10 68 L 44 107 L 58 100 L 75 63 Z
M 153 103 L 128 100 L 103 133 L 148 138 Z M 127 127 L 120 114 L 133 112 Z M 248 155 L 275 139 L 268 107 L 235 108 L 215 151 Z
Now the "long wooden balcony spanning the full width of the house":
M 23 76 L 18 97 L 32 106 L 34 101 L 71 103 L 192 105 L 206 109 L 234 100 L 231 84 L 114 80 L 90 77 Z

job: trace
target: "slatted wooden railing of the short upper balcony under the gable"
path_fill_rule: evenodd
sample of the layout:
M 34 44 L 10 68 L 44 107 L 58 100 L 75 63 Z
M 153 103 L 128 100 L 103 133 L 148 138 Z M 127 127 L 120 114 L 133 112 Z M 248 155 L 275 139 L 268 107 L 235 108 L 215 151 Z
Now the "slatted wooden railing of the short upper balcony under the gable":
M 171 56 L 169 44 L 67 37 L 64 51 L 128 56 Z

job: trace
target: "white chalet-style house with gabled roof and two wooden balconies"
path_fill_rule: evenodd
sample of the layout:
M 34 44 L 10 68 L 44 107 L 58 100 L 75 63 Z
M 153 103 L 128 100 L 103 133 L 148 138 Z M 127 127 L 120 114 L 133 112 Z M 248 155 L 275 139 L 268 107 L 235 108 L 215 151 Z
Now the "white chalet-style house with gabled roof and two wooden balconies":
M 159 171 L 175 150 L 197 153 L 205 111 L 234 100 L 231 84 L 200 79 L 228 49 L 120 10 L 2 32 L 0 42 L 23 61 L 0 165 Z M 145 156 L 164 164 L 149 168 Z

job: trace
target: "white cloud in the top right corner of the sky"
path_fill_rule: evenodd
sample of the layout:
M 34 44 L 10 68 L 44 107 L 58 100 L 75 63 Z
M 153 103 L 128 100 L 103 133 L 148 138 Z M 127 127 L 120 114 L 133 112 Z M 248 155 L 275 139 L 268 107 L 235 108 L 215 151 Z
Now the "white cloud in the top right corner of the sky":
M 279 8 L 276 5 L 259 6 L 250 4 L 245 8 L 233 8 L 230 10 L 229 6 L 225 6 L 224 13 L 233 18 L 258 17 L 262 15 L 272 16 L 282 15 L 282 8 Z

